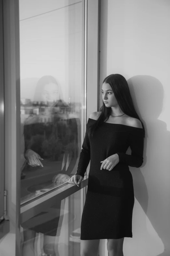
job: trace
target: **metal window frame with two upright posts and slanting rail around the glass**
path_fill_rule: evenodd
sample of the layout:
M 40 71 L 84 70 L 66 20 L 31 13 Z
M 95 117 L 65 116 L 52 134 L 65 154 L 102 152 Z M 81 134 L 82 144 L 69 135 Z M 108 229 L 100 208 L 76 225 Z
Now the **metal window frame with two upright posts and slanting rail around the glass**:
M 10 230 L 15 233 L 15 248 L 10 250 L 20 255 L 20 223 L 29 214 L 41 211 L 43 205 L 64 199 L 81 189 L 81 213 L 84 207 L 88 177 L 81 185 L 66 184 L 61 188 L 20 207 L 20 24 L 19 0 L 3 1 L 4 26 L 4 81 L 5 81 L 5 189 L 8 190 L 7 214 Z M 86 8 L 83 26 L 83 92 L 82 92 L 82 136 L 84 140 L 87 118 L 99 109 L 99 42 L 100 0 L 83 0 Z M 89 166 L 87 171 L 89 170 Z M 35 205 L 36 203 L 36 205 Z M 20 209 L 21 208 L 21 209 Z M 20 214 L 21 211 L 21 214 Z M 30 215 L 29 215 L 30 216 Z M 6 248 L 8 250 L 8 248 Z

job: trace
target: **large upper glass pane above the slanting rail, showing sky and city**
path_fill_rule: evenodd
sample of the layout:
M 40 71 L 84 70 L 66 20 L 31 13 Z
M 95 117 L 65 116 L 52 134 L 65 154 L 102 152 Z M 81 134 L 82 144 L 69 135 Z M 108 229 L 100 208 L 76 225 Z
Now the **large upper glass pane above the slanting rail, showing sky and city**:
M 82 16 L 82 1 L 20 0 L 21 202 L 77 170 Z

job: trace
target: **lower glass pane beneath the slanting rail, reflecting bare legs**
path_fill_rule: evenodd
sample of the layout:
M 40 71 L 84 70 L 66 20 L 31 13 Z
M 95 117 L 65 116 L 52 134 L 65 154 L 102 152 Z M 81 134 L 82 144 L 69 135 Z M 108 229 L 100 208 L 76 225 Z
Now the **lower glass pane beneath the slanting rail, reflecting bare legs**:
M 23 255 L 80 255 L 81 190 L 28 219 L 21 228 Z M 55 224 L 55 225 L 54 225 Z M 29 227 L 29 230 L 26 228 Z M 30 227 L 37 231 L 35 234 Z M 41 232 L 44 234 L 42 234 Z

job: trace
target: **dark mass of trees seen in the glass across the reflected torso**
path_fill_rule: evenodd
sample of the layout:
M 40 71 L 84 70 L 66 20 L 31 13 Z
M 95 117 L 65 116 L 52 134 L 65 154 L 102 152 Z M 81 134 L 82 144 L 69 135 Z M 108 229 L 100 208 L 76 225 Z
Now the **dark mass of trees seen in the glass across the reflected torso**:
M 58 160 L 65 151 L 76 155 L 76 120 L 61 118 L 53 113 L 51 122 L 39 122 L 39 115 L 27 120 L 27 125 L 24 125 L 25 150 L 32 149 L 42 158 L 52 161 Z

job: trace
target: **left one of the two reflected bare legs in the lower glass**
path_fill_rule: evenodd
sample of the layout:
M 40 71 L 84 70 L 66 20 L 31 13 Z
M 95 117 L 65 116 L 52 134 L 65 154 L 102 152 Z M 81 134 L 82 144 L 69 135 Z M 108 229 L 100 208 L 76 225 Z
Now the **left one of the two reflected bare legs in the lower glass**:
M 36 232 L 33 230 L 23 229 L 23 244 L 22 244 L 22 256 L 35 256 L 34 244 L 35 244 Z

